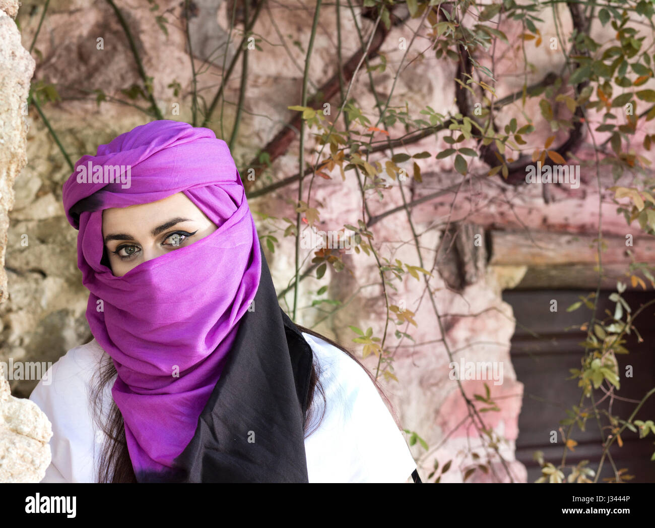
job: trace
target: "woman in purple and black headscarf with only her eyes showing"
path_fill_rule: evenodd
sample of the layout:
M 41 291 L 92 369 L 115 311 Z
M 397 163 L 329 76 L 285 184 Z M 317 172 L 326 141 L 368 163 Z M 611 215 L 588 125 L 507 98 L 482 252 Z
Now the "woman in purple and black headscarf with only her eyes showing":
M 141 125 L 63 191 L 94 339 L 30 396 L 53 426 L 44 482 L 420 481 L 375 380 L 280 308 L 214 132 Z

